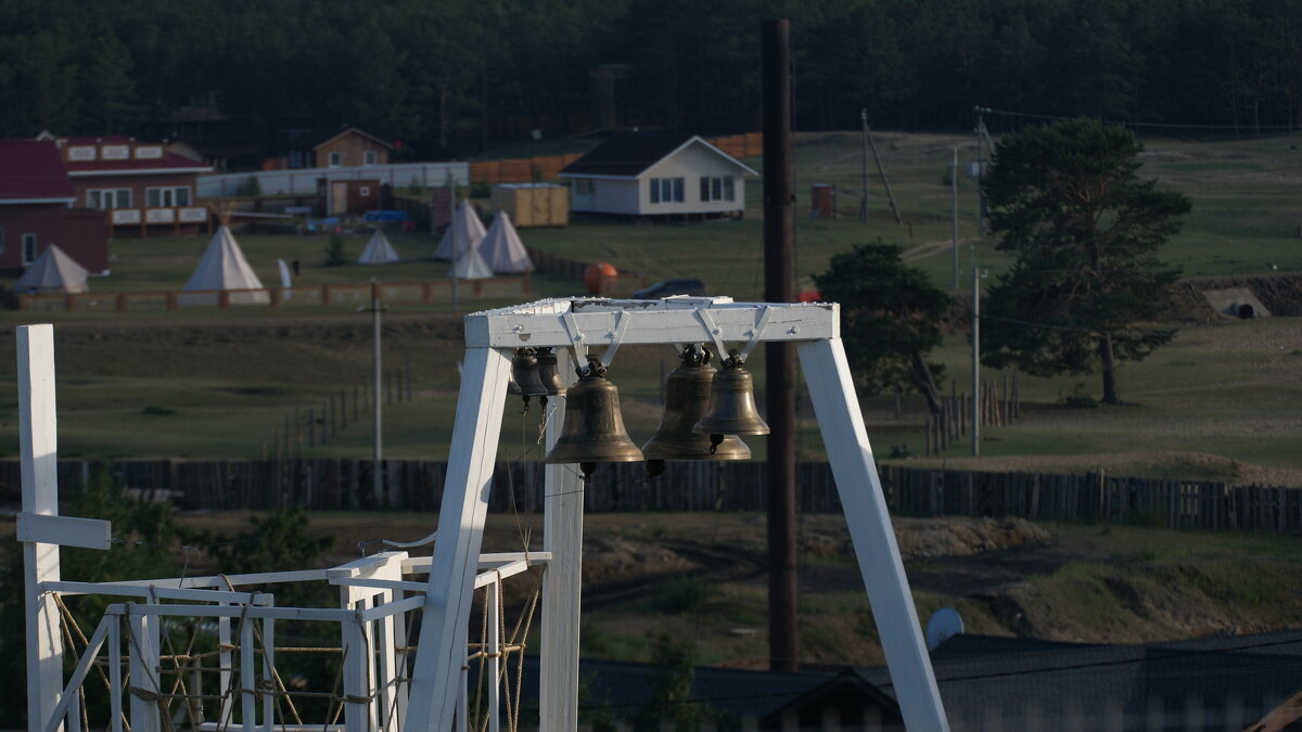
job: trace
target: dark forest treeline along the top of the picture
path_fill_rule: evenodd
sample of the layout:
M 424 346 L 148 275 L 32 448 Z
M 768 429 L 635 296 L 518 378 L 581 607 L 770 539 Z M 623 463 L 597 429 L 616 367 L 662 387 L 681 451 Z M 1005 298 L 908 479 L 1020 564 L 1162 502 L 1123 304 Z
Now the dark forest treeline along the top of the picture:
M 789 17 L 797 126 L 970 129 L 973 107 L 1302 126 L 1297 0 L 7 0 L 0 134 L 165 137 L 215 102 L 237 134 L 348 121 L 473 152 L 621 124 L 758 128 L 758 23 Z M 503 120 L 510 120 L 505 124 Z

